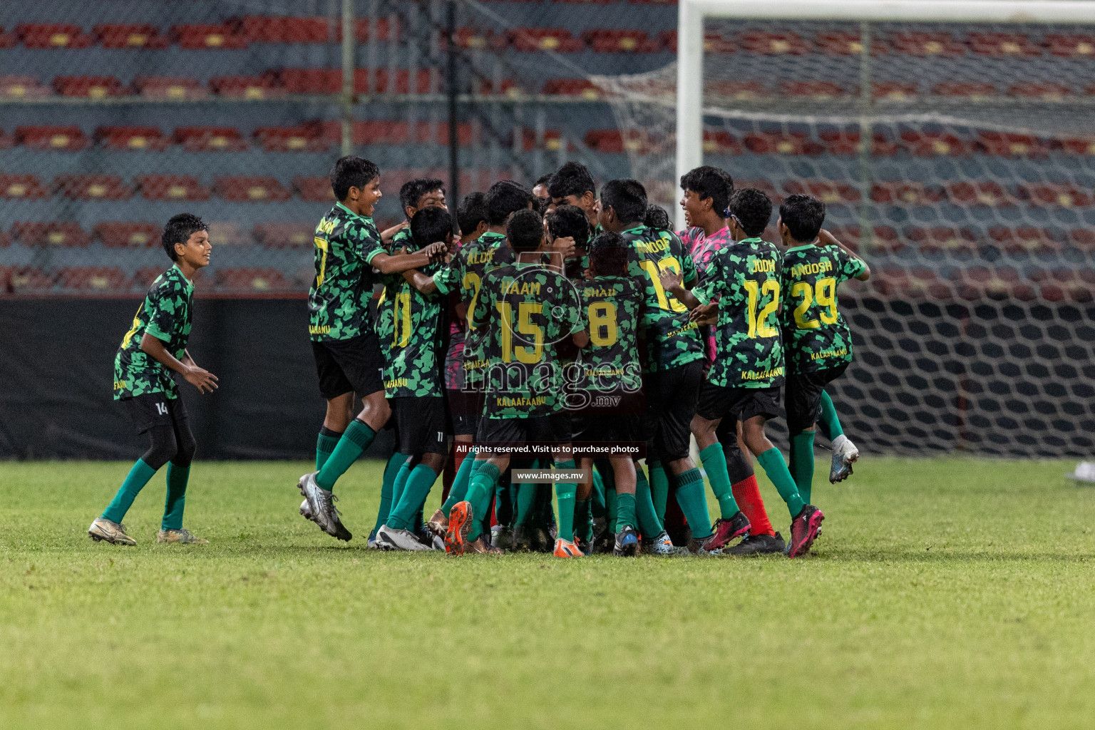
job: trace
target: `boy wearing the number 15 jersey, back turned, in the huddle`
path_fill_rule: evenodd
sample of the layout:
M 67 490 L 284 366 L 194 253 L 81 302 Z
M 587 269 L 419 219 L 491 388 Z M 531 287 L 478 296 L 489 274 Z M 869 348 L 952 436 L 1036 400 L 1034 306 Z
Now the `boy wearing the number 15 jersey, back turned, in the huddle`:
M 507 240 L 516 254 L 527 256 L 540 247 L 543 219 L 532 210 L 514 213 L 506 225 Z M 515 260 L 486 273 L 480 302 L 469 318 L 469 331 L 480 333 L 479 357 L 487 361 L 483 418 L 475 437 L 482 462 L 472 477 L 468 498 L 449 512 L 446 543 L 450 552 L 496 552 L 482 541 L 475 520 L 485 510 L 498 476 L 509 465 L 506 450 L 492 444 L 521 445 L 530 441 L 555 443 L 555 465 L 573 470 L 569 434 L 555 436 L 555 418 L 562 403 L 562 373 L 553 345 L 579 326 L 578 294 L 561 270 L 539 263 Z M 569 545 L 567 557 L 580 555 L 574 545 L 574 496 L 576 483 L 556 484 L 558 541 Z M 477 545 L 477 546 L 476 546 Z M 556 554 L 558 554 L 556 552 Z

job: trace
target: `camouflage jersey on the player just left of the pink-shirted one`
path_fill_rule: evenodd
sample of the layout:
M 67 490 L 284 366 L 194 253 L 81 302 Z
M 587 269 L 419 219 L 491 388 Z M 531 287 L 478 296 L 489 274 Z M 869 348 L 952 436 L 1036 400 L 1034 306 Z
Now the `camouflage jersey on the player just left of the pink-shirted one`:
M 703 359 L 699 327 L 689 321 L 688 308 L 661 286 L 660 271 L 683 275 L 684 286 L 695 280 L 695 264 L 681 240 L 661 229 L 637 225 L 623 232 L 631 244 L 629 274 L 646 290 L 643 317 L 646 339 L 646 372 L 679 368 Z

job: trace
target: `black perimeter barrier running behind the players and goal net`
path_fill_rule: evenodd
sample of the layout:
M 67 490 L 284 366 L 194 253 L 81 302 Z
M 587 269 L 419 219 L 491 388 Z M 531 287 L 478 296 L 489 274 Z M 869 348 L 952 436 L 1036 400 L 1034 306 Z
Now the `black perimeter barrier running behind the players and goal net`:
M 112 399 L 140 300 L 0 299 L 0 459 L 135 459 Z M 1095 454 L 1095 305 L 841 299 L 855 363 L 830 386 L 867 453 Z M 195 301 L 189 350 L 220 379 L 181 385 L 199 459 L 309 459 L 323 419 L 303 299 Z M 782 419 L 773 437 L 785 445 Z M 820 441 L 820 439 L 819 439 Z M 385 432 L 367 455 L 391 450 Z

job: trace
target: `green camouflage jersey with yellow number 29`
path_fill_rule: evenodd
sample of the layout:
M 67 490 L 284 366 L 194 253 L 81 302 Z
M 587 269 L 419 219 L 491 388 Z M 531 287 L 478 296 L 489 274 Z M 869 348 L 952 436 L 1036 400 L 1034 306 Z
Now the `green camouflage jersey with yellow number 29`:
M 852 361 L 852 332 L 837 309 L 837 287 L 864 271 L 840 246 L 796 246 L 783 254 L 783 357 L 787 372 Z

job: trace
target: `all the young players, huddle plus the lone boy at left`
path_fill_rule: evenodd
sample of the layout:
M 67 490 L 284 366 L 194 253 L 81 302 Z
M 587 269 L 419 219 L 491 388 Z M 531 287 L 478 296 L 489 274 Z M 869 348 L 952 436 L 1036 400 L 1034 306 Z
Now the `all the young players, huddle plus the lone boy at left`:
M 570 162 L 531 190 L 499 181 L 464 197 L 456 221 L 441 181 L 412 179 L 400 190 L 406 220 L 381 232 L 377 165 L 342 158 L 331 177 L 337 202 L 315 229 L 308 300 L 326 414 L 316 471 L 298 485 L 304 518 L 351 538 L 334 486 L 392 429 L 369 547 L 560 557 L 810 549 L 823 520 L 810 503 L 816 429 L 832 442 L 830 480 L 858 456 L 825 392 L 852 359 L 837 288 L 868 276 L 821 228 L 822 202 L 782 202 L 781 251 L 762 237 L 772 202 L 735 190 L 723 170 L 681 178 L 687 228 L 675 233 L 637 181 L 609 181 L 598 196 L 589 171 Z M 115 366 L 115 397 L 151 447 L 89 530 L 112 543 L 134 544 L 122 518 L 164 464 L 160 540 L 204 542 L 182 528 L 194 439 L 169 370 L 216 387 L 186 352 L 189 280 L 208 263 L 208 234 L 177 216 L 163 245 L 175 265 L 149 290 Z M 789 465 L 765 436 L 784 412 Z M 787 542 L 749 454 L 787 506 Z M 445 501 L 425 520 L 442 474 Z

